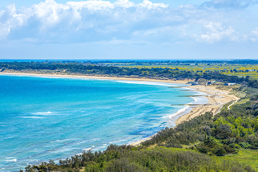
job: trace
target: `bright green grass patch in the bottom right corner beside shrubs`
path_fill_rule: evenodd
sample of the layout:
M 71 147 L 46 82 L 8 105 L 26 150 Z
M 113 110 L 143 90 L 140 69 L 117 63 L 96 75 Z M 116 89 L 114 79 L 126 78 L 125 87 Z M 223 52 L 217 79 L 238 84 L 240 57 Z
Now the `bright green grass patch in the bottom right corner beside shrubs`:
M 238 154 L 218 157 L 220 160 L 233 160 L 258 169 L 258 150 L 240 149 Z

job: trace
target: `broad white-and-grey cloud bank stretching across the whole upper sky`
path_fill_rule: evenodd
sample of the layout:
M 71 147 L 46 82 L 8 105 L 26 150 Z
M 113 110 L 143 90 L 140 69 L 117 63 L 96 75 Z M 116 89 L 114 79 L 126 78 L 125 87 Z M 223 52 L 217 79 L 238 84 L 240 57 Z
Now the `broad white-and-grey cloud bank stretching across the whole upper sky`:
M 239 5 L 244 7 L 245 4 L 251 2 L 212 0 L 203 4 L 205 8 L 197 5 L 172 8 L 148 0 L 139 4 L 129 0 L 65 4 L 45 0 L 18 10 L 15 4 L 10 4 L 0 11 L 0 39 L 39 44 L 256 41 L 257 29 L 250 28 L 250 33 L 237 31 L 245 16 L 210 8 L 240 8 Z M 247 35 L 246 39 L 243 35 Z

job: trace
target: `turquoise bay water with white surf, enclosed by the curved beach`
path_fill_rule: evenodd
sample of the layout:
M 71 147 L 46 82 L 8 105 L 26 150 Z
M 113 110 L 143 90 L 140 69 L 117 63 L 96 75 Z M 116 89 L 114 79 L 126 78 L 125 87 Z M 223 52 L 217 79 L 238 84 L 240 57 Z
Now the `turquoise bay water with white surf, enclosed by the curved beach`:
M 176 84 L 0 75 L 0 172 L 128 144 L 171 127 Z

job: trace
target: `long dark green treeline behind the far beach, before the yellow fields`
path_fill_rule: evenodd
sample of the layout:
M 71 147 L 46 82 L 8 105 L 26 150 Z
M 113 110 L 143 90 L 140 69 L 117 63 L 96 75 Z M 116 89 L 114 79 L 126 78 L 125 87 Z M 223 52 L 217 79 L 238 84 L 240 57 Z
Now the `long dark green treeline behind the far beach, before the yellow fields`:
M 237 77 L 222 74 L 220 72 L 208 71 L 208 72 L 194 72 L 191 70 L 179 70 L 170 68 L 127 68 L 127 67 L 113 67 L 113 66 L 100 66 L 89 63 L 57 63 L 57 62 L 0 62 L 1 71 L 4 69 L 13 70 L 57 70 L 70 73 L 82 73 L 82 74 L 107 74 L 114 76 L 147 76 L 147 77 L 166 77 L 166 78 L 196 78 L 196 81 L 200 78 L 215 79 L 219 82 L 230 82 L 248 84 L 250 87 L 258 88 L 258 81 L 247 77 Z M 59 72 L 60 72 L 59 71 Z

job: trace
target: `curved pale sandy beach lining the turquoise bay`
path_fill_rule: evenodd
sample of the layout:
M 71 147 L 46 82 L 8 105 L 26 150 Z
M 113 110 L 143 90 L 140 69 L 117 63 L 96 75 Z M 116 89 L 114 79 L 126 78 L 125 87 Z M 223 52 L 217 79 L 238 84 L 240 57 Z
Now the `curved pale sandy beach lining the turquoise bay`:
M 187 82 L 193 81 L 192 79 L 153 79 L 153 78 L 137 78 L 137 77 L 111 77 L 111 76 L 88 76 L 88 75 L 64 75 L 64 74 L 40 74 L 40 73 L 15 73 L 15 72 L 1 72 L 0 74 L 7 75 L 28 75 L 28 76 L 50 76 L 50 77 L 70 77 L 70 78 L 94 78 L 94 79 L 115 79 L 115 80 L 131 80 L 131 81 L 151 81 L 151 82 L 164 82 L 164 83 L 177 83 L 177 84 L 185 84 Z M 189 119 L 192 119 L 200 114 L 204 114 L 205 112 L 212 112 L 213 114 L 217 114 L 220 112 L 222 106 L 231 101 L 237 101 L 240 98 L 236 97 L 233 94 L 229 94 L 230 91 L 216 89 L 215 86 L 184 86 L 184 88 L 195 89 L 198 92 L 206 93 L 206 97 L 209 101 L 205 105 L 193 105 L 190 106 L 191 111 L 187 114 L 181 114 L 180 117 L 175 121 L 175 124 L 183 123 Z M 144 138 L 137 142 L 132 143 L 131 145 L 139 145 L 141 142 L 150 139 Z

